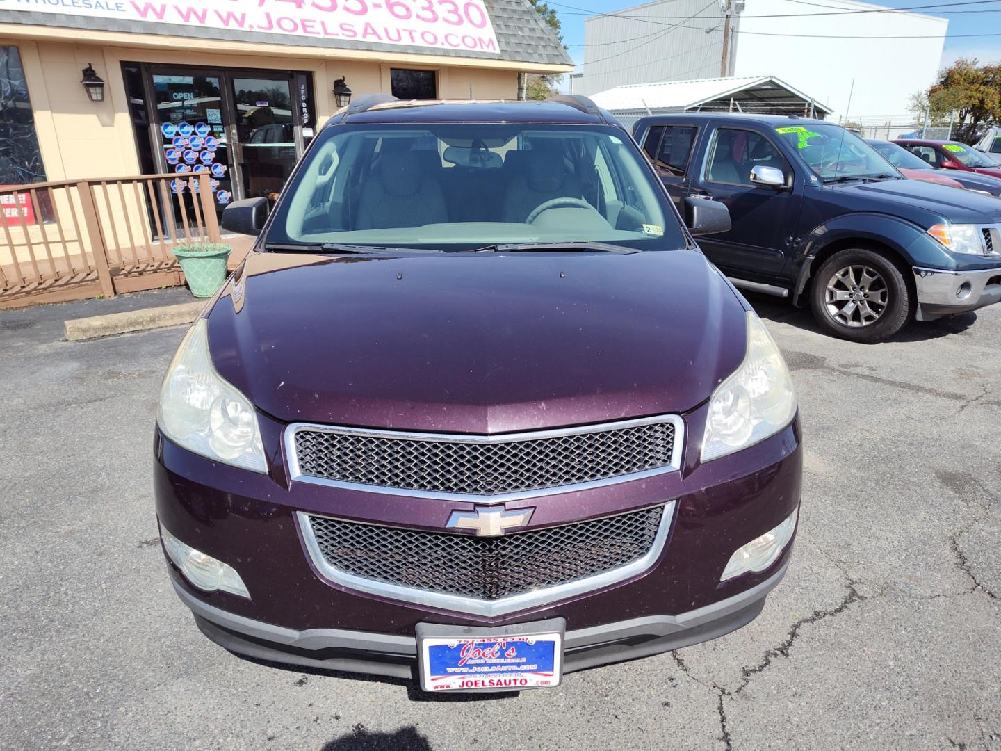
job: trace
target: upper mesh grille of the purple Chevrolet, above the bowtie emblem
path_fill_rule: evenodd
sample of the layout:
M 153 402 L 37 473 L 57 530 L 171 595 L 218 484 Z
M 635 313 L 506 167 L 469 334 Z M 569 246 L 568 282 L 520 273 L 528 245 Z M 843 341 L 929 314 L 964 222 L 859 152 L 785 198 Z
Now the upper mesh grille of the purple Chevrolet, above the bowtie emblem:
M 576 486 L 674 469 L 676 420 L 507 437 L 293 426 L 292 476 L 472 496 Z

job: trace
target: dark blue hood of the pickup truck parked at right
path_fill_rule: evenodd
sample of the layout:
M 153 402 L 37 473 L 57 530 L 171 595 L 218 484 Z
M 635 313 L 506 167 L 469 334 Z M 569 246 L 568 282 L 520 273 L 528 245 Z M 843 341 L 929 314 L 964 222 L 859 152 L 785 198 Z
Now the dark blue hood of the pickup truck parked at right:
M 880 180 L 851 182 L 835 186 L 844 197 L 853 197 L 853 205 L 869 210 L 883 210 L 904 216 L 917 224 L 931 224 L 928 214 L 957 224 L 1001 222 L 1001 203 L 989 195 L 936 185 L 919 180 Z M 887 209 L 890 209 L 887 211 Z

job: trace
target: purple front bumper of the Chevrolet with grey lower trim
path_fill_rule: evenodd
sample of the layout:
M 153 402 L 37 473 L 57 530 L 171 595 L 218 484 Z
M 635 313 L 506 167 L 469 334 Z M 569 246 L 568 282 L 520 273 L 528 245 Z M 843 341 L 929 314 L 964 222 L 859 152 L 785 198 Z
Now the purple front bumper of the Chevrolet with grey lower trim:
M 686 416 L 688 435 L 705 430 L 705 406 Z M 507 504 L 536 507 L 530 527 L 549 527 L 675 502 L 668 539 L 645 571 L 555 602 L 494 615 L 404 602 L 331 581 L 311 565 L 299 512 L 418 529 L 441 529 L 472 503 L 409 499 L 327 488 L 285 476 L 283 426 L 259 416 L 269 475 L 247 473 L 186 452 L 157 433 L 154 466 L 160 523 L 184 543 L 231 565 L 251 599 L 195 589 L 172 565 L 175 589 L 199 628 L 233 652 L 328 669 L 409 677 L 420 623 L 499 628 L 562 618 L 567 669 L 642 657 L 713 639 L 753 620 L 778 584 L 788 545 L 766 571 L 721 582 L 740 546 L 799 506 L 798 419 L 772 438 L 700 464 L 696 442 L 677 472 L 608 487 Z

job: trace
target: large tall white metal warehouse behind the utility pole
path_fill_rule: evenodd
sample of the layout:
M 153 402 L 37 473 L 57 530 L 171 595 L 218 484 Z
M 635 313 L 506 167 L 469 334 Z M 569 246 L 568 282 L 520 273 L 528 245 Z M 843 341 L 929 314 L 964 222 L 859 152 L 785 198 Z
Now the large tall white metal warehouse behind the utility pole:
M 574 90 L 715 78 L 725 66 L 726 75 L 777 76 L 835 119 L 891 119 L 934 82 L 948 25 L 853 0 L 655 0 L 587 19 Z

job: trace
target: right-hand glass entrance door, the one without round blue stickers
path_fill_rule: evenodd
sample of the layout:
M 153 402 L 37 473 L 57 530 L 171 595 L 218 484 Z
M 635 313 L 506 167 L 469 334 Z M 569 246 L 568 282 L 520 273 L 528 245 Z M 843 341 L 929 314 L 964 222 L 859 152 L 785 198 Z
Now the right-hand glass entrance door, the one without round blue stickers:
M 233 73 L 231 140 L 239 195 L 277 197 L 301 148 L 296 143 L 291 75 Z

